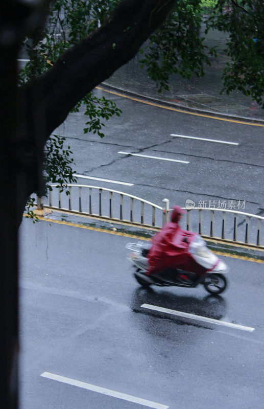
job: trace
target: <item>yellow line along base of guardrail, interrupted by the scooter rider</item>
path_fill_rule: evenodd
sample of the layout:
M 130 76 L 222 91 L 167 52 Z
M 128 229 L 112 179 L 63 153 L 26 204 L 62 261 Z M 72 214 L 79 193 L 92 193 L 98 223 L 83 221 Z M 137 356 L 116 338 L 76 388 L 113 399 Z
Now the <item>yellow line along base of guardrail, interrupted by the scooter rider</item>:
M 26 215 L 24 214 L 24 216 L 26 216 Z M 38 219 L 42 220 L 42 221 L 47 221 L 47 222 L 50 222 L 50 223 L 64 224 L 66 226 L 77 227 L 79 229 L 93 230 L 94 232 L 114 234 L 115 236 L 129 237 L 129 238 L 132 238 L 132 239 L 145 240 L 145 241 L 150 241 L 151 240 L 151 238 L 148 238 L 148 237 L 137 236 L 137 235 L 123 233 L 123 232 L 117 232 L 117 231 L 114 231 L 114 230 L 100 229 L 100 228 L 93 227 L 93 226 L 86 226 L 84 224 L 72 223 L 70 221 L 54 220 L 54 219 L 49 219 L 47 217 L 42 217 L 42 216 L 38 216 Z M 233 259 L 247 260 L 247 261 L 253 261 L 254 263 L 264 264 L 264 260 L 254 259 L 253 257 L 239 256 L 237 254 L 229 254 L 229 253 L 224 253 L 224 252 L 213 252 L 213 253 L 217 254 L 218 256 L 231 257 Z

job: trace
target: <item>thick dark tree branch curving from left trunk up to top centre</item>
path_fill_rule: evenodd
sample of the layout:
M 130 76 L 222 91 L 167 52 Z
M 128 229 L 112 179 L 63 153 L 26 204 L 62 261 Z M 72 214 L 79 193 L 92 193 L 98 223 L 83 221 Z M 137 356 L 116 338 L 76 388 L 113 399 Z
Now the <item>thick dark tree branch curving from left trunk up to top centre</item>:
M 25 198 L 42 188 L 39 175 L 50 134 L 83 97 L 135 56 L 176 2 L 123 0 L 97 31 L 19 88 L 17 151 L 27 174 Z

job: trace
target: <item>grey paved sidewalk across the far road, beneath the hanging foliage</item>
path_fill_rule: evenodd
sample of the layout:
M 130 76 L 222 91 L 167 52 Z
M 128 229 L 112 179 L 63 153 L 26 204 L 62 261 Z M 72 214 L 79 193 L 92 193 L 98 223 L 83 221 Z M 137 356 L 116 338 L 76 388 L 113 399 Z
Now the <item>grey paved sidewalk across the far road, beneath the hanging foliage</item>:
M 183 79 L 180 75 L 170 78 L 170 90 L 158 93 L 157 87 L 145 69 L 140 69 L 137 54 L 128 64 L 117 70 L 104 84 L 133 93 L 135 95 L 170 103 L 180 108 L 207 111 L 218 115 L 239 117 L 247 120 L 264 121 L 264 109 L 250 97 L 241 92 L 232 92 L 229 96 L 220 95 L 222 90 L 222 73 L 228 57 L 224 54 L 226 34 L 209 32 L 207 45 L 217 45 L 219 54 L 217 58 L 210 57 L 211 66 L 205 65 L 204 77 L 193 76 L 190 80 Z

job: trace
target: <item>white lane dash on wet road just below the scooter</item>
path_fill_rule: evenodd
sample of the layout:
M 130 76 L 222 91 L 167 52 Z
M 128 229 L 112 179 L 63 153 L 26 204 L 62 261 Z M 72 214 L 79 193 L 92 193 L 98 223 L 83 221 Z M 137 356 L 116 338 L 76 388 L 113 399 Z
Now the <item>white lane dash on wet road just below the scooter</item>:
M 191 320 L 197 320 L 197 321 L 203 321 L 203 322 L 210 323 L 210 324 L 222 325 L 224 327 L 229 327 L 233 329 L 240 329 L 240 330 L 249 331 L 249 332 L 252 332 L 255 330 L 255 328 L 252 328 L 252 327 L 245 327 L 244 325 L 228 323 L 226 321 L 214 320 L 213 318 L 207 318 L 206 316 L 201 316 L 201 315 L 196 315 L 196 314 L 189 314 L 188 312 L 170 310 L 168 308 L 158 307 L 156 305 L 142 304 L 141 307 L 147 308 L 150 310 L 154 310 L 154 311 L 165 312 L 167 314 L 183 316 Z

